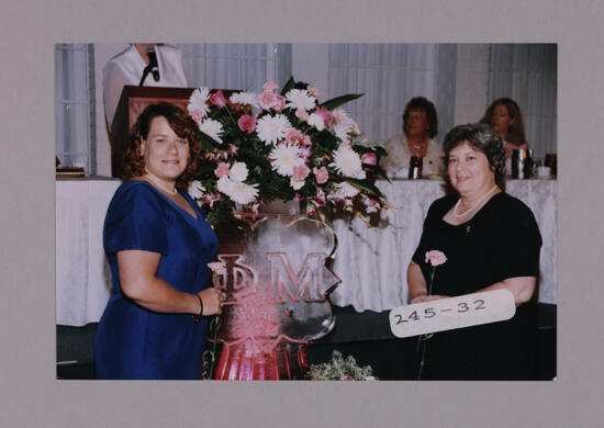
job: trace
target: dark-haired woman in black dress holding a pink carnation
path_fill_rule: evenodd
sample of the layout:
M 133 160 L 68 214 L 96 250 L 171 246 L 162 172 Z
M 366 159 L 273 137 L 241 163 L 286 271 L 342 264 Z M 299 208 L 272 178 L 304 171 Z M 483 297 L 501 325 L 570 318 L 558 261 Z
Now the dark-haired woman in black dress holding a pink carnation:
M 530 334 L 524 311 L 536 288 L 541 236 L 535 216 L 502 191 L 505 151 L 488 125 L 454 127 L 445 137 L 445 166 L 457 194 L 429 207 L 407 270 L 411 303 L 506 289 L 516 315 L 506 322 L 436 333 L 426 341 L 424 379 L 530 379 Z M 429 250 L 448 260 L 438 266 L 428 295 Z

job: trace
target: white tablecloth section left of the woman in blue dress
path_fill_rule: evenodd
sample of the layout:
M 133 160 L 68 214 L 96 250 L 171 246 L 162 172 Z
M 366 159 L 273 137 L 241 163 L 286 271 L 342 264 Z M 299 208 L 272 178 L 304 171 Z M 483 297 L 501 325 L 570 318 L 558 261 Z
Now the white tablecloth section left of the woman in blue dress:
M 103 254 L 103 222 L 116 179 L 56 181 L 57 324 L 83 326 L 100 319 L 111 290 Z

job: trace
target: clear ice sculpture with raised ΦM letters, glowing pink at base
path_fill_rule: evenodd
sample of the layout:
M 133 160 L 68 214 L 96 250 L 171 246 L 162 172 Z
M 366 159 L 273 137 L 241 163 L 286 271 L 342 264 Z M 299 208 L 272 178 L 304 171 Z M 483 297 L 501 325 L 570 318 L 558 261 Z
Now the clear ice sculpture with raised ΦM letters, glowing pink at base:
M 334 327 L 327 294 L 339 278 L 325 261 L 335 235 L 300 209 L 298 201 L 266 204 L 239 237 L 245 243 L 231 244 L 238 252 L 221 248 L 226 273 L 217 282 L 226 301 L 222 325 L 206 346 L 220 353 L 213 356 L 212 379 L 304 379 L 309 340 Z

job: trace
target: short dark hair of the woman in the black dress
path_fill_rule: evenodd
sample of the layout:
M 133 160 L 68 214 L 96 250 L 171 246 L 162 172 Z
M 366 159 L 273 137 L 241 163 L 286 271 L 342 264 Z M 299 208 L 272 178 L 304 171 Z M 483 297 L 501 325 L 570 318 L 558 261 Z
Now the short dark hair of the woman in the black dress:
M 458 125 L 449 131 L 443 143 L 445 168 L 449 166 L 449 154 L 451 150 L 466 142 L 486 156 L 489 165 L 495 173 L 495 183 L 503 189 L 505 185 L 505 150 L 503 148 L 503 140 L 490 125 L 484 123 Z

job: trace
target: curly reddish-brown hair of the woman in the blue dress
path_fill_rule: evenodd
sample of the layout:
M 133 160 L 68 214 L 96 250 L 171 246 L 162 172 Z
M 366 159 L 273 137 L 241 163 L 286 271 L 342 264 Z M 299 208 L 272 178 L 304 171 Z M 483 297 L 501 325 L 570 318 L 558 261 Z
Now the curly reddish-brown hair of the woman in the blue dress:
M 184 172 L 176 180 L 176 187 L 186 190 L 189 182 L 197 174 L 199 159 L 201 156 L 201 131 L 193 119 L 179 106 L 160 102 L 148 105 L 130 131 L 128 139 L 124 148 L 124 162 L 122 180 L 126 181 L 133 177 L 145 173 L 145 160 L 141 156 L 141 144 L 147 139 L 152 121 L 155 117 L 166 117 L 168 124 L 176 135 L 189 142 L 189 160 Z

